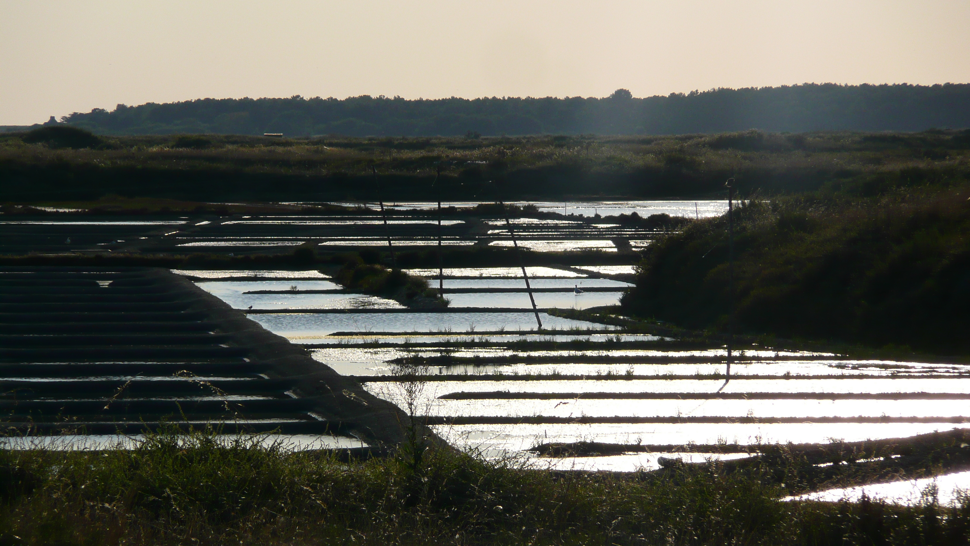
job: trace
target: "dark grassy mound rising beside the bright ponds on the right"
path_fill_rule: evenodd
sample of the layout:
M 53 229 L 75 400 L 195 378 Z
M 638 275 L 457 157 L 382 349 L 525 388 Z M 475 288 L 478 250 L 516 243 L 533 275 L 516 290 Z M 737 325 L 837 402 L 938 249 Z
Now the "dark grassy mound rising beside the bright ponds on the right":
M 967 355 L 968 184 L 959 173 L 921 185 L 889 176 L 878 191 L 743 202 L 734 211 L 738 326 L 910 358 L 914 351 Z M 726 328 L 727 215 L 694 222 L 643 256 L 624 312 Z

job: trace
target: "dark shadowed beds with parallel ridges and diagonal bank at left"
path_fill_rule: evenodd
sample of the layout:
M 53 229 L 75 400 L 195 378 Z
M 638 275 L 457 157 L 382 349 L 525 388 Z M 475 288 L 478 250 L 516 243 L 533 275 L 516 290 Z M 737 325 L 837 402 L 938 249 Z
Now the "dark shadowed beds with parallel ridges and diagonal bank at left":
M 168 270 L 0 268 L 8 436 L 163 424 L 396 444 L 406 416 Z

